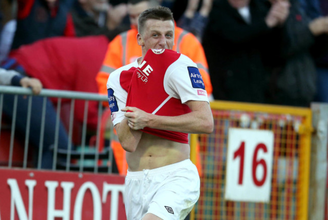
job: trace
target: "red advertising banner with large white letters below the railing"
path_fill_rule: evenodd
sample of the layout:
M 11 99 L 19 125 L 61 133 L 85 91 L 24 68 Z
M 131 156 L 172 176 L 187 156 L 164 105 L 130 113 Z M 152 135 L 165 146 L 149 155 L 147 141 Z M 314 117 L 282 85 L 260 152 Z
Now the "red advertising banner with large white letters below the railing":
M 126 220 L 124 176 L 0 169 L 0 219 Z

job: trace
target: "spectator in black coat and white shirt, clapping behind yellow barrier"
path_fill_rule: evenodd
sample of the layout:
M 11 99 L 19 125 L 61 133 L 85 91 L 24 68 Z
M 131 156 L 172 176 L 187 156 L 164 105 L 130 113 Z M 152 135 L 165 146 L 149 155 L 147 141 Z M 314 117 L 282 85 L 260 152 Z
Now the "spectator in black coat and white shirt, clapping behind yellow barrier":
M 279 45 L 279 25 L 288 16 L 288 3 L 270 7 L 261 0 L 214 1 L 203 35 L 214 99 L 265 101 L 270 72 L 263 56 Z M 274 58 L 271 58 L 275 60 Z

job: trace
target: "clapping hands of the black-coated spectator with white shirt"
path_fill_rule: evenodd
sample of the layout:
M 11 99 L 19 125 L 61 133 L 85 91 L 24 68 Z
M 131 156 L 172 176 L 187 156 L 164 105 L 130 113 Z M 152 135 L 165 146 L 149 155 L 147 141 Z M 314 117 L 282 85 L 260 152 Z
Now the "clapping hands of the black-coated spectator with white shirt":
M 272 6 L 268 12 L 265 23 L 268 27 L 276 27 L 284 24 L 288 15 L 290 3 L 285 0 L 271 0 Z

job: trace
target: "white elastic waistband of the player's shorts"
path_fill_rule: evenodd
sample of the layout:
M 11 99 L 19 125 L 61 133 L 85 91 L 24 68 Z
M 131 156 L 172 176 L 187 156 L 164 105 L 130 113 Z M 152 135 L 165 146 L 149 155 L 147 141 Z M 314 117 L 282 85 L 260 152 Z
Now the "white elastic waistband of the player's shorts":
M 156 168 L 156 169 L 152 169 L 152 170 L 143 170 L 143 171 L 136 171 L 136 172 L 131 172 L 128 171 L 126 178 L 133 178 L 133 179 L 137 179 L 137 178 L 144 178 L 144 176 L 154 176 L 156 174 L 163 174 L 169 171 L 173 171 L 179 168 L 183 168 L 186 166 L 190 166 L 193 165 L 193 163 L 191 162 L 190 159 L 185 159 L 182 160 L 180 162 L 177 163 L 173 163 L 164 167 L 160 167 L 160 168 Z

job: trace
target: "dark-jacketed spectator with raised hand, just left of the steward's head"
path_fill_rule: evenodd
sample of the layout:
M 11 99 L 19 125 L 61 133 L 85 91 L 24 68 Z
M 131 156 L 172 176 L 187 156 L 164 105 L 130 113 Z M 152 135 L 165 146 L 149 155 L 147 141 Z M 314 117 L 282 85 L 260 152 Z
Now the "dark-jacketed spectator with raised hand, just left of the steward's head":
M 106 35 L 112 40 L 119 33 L 129 29 L 122 26 L 127 15 L 126 4 L 110 5 L 107 0 L 77 0 L 72 17 L 77 36 Z

